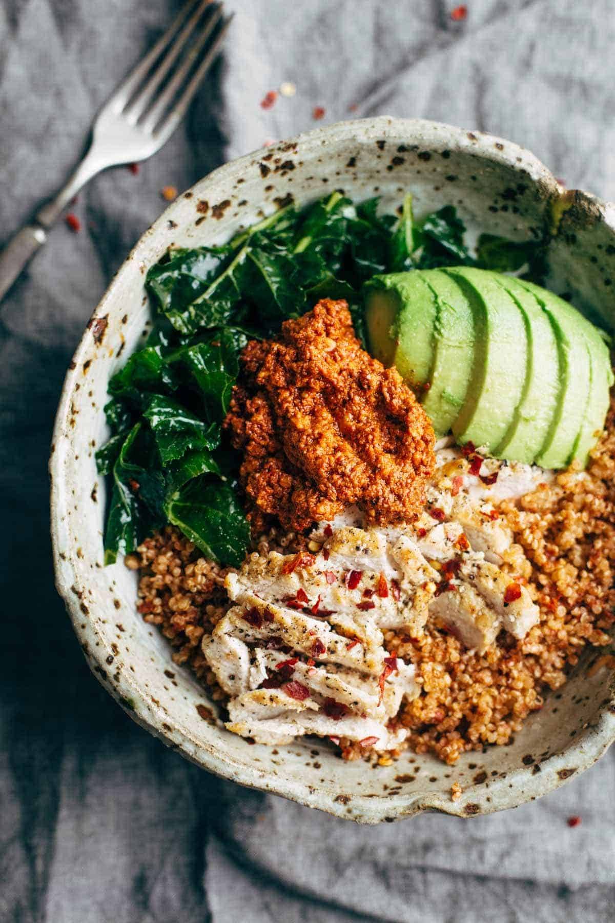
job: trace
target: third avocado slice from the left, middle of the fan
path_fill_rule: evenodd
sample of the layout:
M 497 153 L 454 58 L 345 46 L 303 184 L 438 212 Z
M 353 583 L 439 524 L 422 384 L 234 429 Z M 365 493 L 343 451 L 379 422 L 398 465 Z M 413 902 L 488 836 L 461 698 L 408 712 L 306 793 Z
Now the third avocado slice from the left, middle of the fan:
M 442 270 L 457 282 L 472 308 L 475 349 L 467 398 L 453 424 L 459 443 L 490 452 L 514 421 L 526 381 L 527 338 L 521 312 L 488 270 Z

